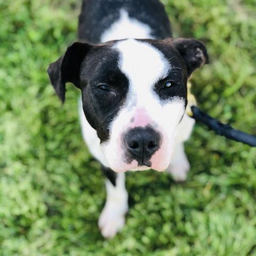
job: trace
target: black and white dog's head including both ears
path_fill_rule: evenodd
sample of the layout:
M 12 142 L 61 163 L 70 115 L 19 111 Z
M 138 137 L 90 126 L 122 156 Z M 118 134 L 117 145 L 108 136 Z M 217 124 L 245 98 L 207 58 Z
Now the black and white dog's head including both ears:
M 164 171 L 187 105 L 187 78 L 207 61 L 195 39 L 125 39 L 75 43 L 48 72 L 62 101 L 66 82 L 81 89 L 85 117 L 113 171 Z

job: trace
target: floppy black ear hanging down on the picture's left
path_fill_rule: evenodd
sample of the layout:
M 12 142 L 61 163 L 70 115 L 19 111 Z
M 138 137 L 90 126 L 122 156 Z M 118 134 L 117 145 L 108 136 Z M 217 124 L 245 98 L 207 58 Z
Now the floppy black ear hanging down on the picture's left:
M 81 63 L 92 45 L 86 43 L 73 43 L 68 47 L 66 53 L 57 61 L 50 64 L 47 69 L 52 86 L 61 99 L 65 101 L 66 83 L 71 82 L 76 87 L 79 86 L 79 73 Z

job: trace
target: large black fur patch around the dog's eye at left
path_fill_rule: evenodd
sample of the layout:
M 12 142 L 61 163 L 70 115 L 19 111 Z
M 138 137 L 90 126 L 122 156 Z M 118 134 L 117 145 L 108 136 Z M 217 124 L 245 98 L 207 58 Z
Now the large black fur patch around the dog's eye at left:
M 94 53 L 82 67 L 82 102 L 85 117 L 101 142 L 109 139 L 109 127 L 126 99 L 128 78 L 118 67 L 119 53 L 110 47 Z M 99 89 L 108 86 L 109 91 Z M 103 89 L 103 88 L 102 88 Z

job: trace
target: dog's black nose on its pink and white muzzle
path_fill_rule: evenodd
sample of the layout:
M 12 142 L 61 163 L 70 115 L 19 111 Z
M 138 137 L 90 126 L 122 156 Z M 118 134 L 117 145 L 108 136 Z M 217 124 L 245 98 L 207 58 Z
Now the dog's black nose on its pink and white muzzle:
M 135 127 L 124 136 L 128 155 L 139 165 L 151 166 L 149 159 L 159 148 L 160 134 L 151 127 Z

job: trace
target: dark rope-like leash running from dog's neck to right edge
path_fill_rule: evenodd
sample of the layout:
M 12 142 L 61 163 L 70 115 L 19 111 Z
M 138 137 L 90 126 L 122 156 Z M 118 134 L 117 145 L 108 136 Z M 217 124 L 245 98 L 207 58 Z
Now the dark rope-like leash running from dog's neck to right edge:
M 229 124 L 222 124 L 217 119 L 204 113 L 201 109 L 196 106 L 191 106 L 191 111 L 193 115 L 192 118 L 196 122 L 205 124 L 210 130 L 213 130 L 218 135 L 224 136 L 230 140 L 235 140 L 242 142 L 244 144 L 250 145 L 251 147 L 256 147 L 256 137 L 245 132 L 238 131 L 231 127 Z

